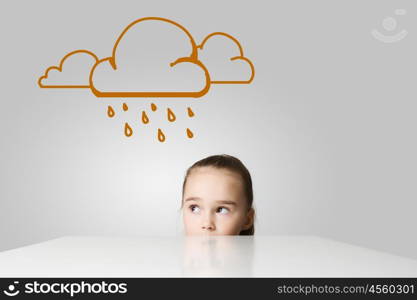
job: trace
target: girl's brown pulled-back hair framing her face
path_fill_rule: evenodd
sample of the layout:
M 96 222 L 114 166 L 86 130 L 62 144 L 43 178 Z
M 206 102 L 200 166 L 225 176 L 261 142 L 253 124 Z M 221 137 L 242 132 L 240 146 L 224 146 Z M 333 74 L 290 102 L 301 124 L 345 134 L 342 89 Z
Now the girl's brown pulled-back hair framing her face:
M 191 167 L 188 168 L 184 183 L 182 185 L 182 195 L 184 196 L 185 184 L 187 183 L 187 178 L 190 175 L 191 171 L 198 167 L 214 167 L 218 169 L 227 169 L 229 171 L 235 172 L 240 175 L 243 181 L 243 192 L 246 198 L 246 203 L 248 205 L 248 210 L 253 208 L 253 189 L 252 189 L 252 178 L 248 169 L 245 165 L 236 157 L 231 155 L 222 154 L 222 155 L 212 155 L 202 160 L 195 162 Z M 249 229 L 242 230 L 239 235 L 254 235 L 255 227 L 252 226 Z

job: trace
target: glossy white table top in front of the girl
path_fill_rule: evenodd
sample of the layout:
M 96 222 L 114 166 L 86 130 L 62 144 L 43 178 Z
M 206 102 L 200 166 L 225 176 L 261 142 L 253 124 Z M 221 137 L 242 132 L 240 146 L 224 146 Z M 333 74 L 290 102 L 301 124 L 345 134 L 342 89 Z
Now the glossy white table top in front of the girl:
M 0 252 L 0 277 L 417 277 L 417 260 L 315 236 L 68 236 Z

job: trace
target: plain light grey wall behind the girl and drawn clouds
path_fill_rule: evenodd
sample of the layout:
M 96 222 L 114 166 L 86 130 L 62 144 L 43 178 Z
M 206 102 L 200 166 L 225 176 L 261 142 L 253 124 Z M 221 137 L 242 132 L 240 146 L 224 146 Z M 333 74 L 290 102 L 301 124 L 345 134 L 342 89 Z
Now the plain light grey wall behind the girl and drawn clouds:
M 252 173 L 256 234 L 314 234 L 417 258 L 415 13 L 412 1 L 380 0 L 3 1 L 0 250 L 64 235 L 180 235 L 186 168 L 228 153 Z M 38 88 L 64 54 L 106 57 L 146 16 L 173 19 L 198 41 L 234 35 L 254 82 L 155 100 L 196 112 L 165 123 L 163 144 L 146 130 L 123 136 L 148 99 Z M 371 36 L 387 16 L 409 31 L 404 40 Z M 121 111 L 122 102 L 132 109 L 109 119 L 107 105 Z

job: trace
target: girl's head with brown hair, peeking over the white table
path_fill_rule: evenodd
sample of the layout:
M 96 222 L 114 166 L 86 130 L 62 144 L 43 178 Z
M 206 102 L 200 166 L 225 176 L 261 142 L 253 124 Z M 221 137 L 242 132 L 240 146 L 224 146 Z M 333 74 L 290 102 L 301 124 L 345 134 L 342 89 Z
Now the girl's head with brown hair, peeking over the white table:
M 182 188 L 186 235 L 253 235 L 252 179 L 243 163 L 214 155 L 194 163 Z

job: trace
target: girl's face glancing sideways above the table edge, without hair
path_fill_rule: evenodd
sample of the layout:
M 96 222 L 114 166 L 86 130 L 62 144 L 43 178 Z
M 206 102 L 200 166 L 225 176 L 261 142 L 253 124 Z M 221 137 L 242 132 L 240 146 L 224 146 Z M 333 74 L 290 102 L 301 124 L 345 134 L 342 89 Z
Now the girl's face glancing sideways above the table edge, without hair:
M 188 175 L 182 210 L 186 235 L 238 235 L 251 227 L 254 213 L 247 209 L 240 175 L 214 167 Z

